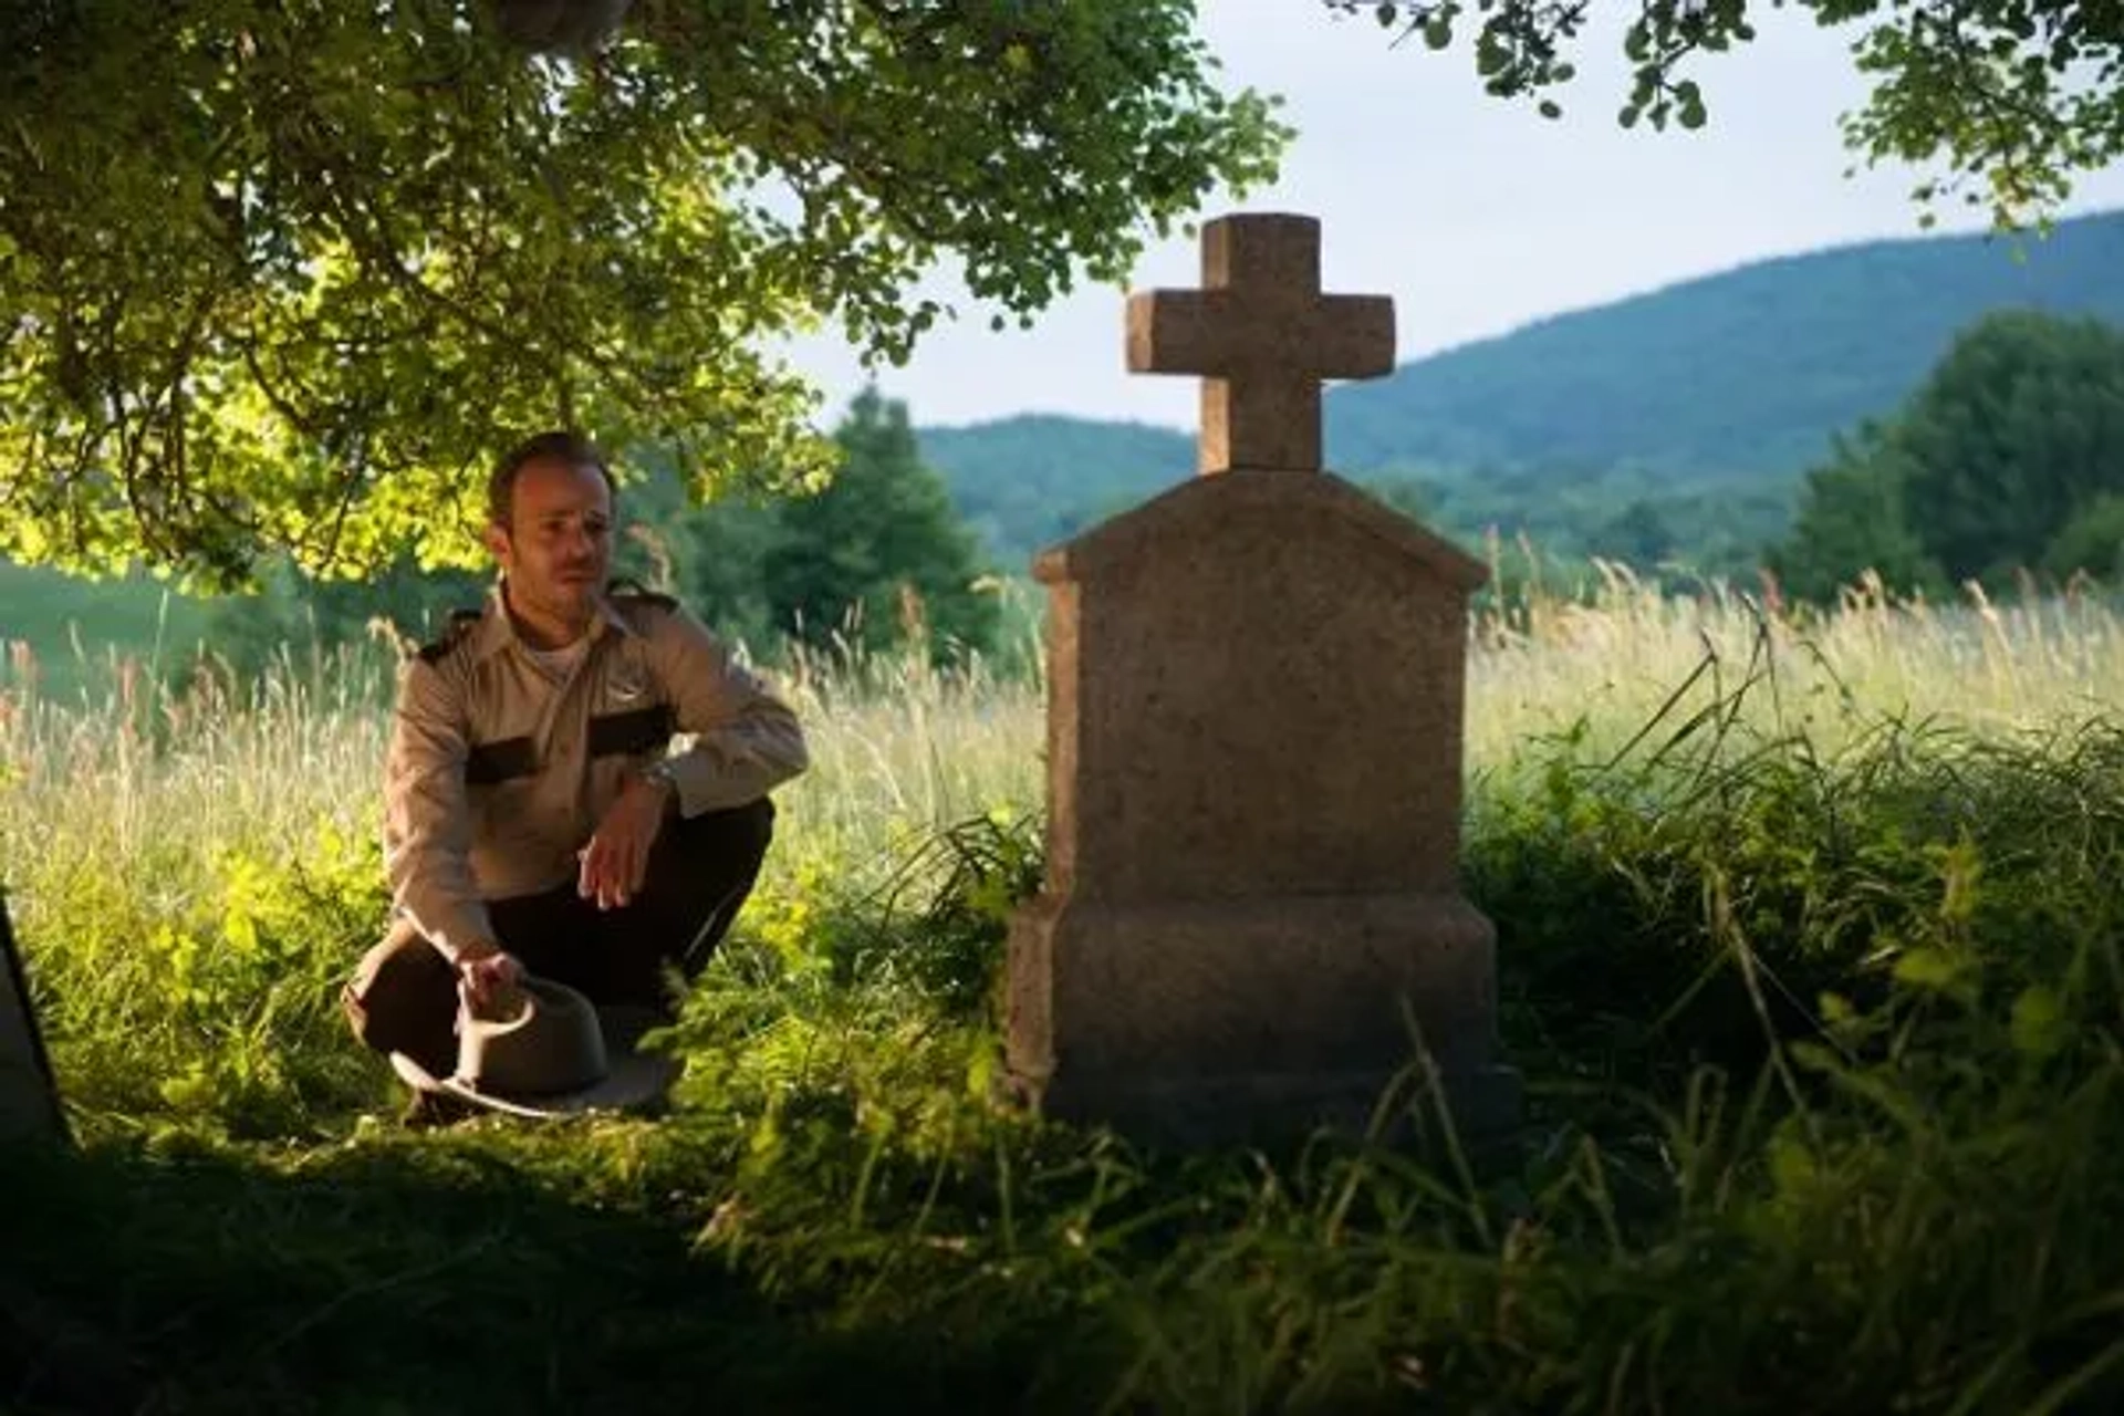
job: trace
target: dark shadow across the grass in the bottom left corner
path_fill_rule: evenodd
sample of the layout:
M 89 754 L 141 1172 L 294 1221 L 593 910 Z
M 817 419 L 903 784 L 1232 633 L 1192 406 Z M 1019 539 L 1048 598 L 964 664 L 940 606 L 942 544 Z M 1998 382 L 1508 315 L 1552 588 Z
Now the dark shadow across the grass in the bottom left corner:
M 0 1193 L 23 1416 L 1003 1410 L 1041 1365 L 828 1331 L 695 1253 L 699 1216 L 569 1197 L 499 1140 L 11 1153 Z

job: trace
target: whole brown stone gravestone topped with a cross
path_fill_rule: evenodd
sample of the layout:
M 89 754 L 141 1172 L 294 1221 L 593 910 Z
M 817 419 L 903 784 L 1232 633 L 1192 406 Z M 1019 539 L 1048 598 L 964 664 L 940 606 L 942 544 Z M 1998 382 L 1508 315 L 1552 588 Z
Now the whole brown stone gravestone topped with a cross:
M 1493 930 L 1459 892 L 1478 560 L 1321 469 L 1323 378 L 1393 306 L 1323 295 L 1319 223 L 1209 223 L 1202 291 L 1128 304 L 1128 367 L 1200 374 L 1196 478 L 1034 560 L 1047 881 L 1013 919 L 1007 1061 L 1051 1117 L 1179 1144 L 1364 1127 L 1419 1059 L 1517 1119 Z

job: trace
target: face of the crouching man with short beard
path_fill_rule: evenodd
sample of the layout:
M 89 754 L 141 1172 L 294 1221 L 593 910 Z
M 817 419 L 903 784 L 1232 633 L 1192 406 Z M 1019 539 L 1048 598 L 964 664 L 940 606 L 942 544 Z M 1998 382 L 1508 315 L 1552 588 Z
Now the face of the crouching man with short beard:
M 584 626 L 612 569 L 612 488 L 597 467 L 525 463 L 510 524 L 486 529 L 518 614 Z

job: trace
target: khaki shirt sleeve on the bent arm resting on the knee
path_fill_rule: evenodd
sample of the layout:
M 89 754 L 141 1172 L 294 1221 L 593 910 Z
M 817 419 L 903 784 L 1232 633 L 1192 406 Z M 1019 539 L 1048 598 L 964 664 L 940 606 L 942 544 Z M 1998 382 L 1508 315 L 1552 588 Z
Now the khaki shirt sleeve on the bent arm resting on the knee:
M 688 609 L 661 618 L 650 654 L 678 730 L 692 737 L 671 756 L 682 815 L 758 800 L 809 766 L 796 713 Z

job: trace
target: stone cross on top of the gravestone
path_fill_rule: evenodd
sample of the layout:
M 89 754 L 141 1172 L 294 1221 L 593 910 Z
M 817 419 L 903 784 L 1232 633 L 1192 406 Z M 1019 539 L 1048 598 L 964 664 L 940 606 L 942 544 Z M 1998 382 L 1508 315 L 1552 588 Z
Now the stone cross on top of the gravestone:
M 1200 291 L 1128 297 L 1128 369 L 1200 374 L 1198 469 L 1319 471 L 1321 380 L 1393 369 L 1393 299 L 1323 295 L 1319 221 L 1221 217 Z

